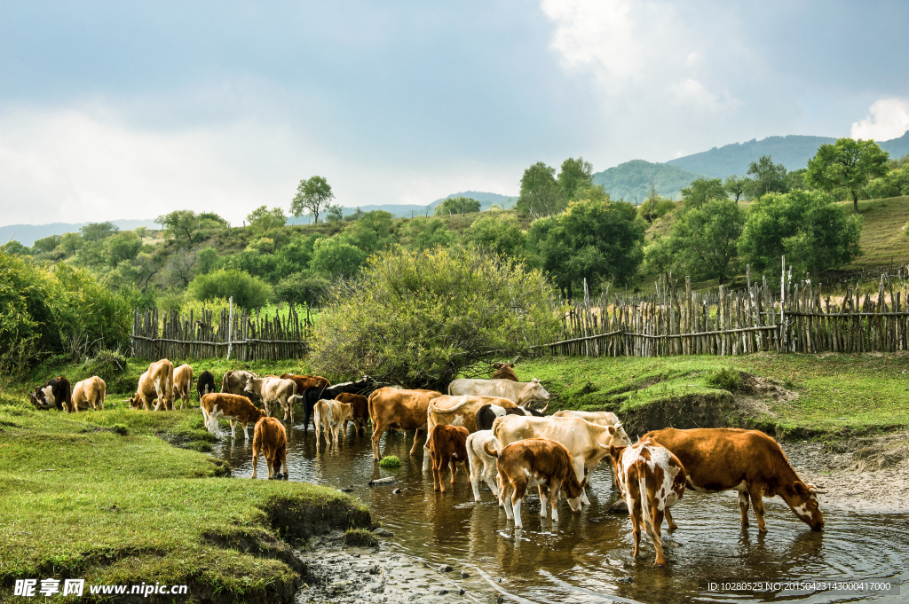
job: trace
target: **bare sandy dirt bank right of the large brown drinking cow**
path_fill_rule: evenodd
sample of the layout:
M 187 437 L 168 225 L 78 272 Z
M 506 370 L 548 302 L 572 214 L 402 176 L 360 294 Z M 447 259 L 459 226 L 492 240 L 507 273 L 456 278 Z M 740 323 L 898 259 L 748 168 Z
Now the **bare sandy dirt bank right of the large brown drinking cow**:
M 822 510 L 909 511 L 909 434 L 833 446 L 788 442 L 783 450 L 802 480 L 826 491 Z

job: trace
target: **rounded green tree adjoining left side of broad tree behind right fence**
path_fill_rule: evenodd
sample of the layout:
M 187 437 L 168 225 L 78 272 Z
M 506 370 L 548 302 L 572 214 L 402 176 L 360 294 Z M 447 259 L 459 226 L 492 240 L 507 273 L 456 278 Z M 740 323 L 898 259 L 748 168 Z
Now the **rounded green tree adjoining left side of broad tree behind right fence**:
M 679 274 L 717 279 L 723 285 L 735 270 L 743 226 L 744 213 L 731 199 L 712 199 L 682 213 L 669 243 Z

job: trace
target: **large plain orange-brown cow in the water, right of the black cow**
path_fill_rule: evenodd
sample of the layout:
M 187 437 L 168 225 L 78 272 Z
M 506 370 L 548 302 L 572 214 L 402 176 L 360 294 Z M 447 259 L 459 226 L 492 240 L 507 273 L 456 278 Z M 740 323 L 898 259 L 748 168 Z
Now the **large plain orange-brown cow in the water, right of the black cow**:
M 379 440 L 389 428 L 400 431 L 415 431 L 413 455 L 419 432 L 426 430 L 426 411 L 429 401 L 442 396 L 432 390 L 398 390 L 379 388 L 369 395 L 369 419 L 373 421 L 373 459 L 380 460 Z

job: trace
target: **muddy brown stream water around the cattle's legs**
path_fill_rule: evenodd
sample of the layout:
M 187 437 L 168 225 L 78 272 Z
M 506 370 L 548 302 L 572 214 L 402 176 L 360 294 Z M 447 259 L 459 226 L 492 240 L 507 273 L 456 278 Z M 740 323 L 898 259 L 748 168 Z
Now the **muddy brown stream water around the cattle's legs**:
M 560 521 L 553 526 L 540 520 L 539 500 L 529 496 L 523 506 L 524 530 L 515 531 L 485 487 L 483 501 L 474 503 L 463 470 L 453 491 L 435 493 L 431 475 L 421 471 L 422 446 L 410 457 L 412 437 L 386 438 L 383 454 L 402 460 L 396 470 L 380 469 L 373 462 L 366 436 L 350 434 L 335 450 L 324 441 L 316 447 L 312 430 L 308 435 L 299 429 L 288 431 L 290 479 L 335 488 L 353 486 L 352 494 L 369 506 L 373 518 L 395 532 L 390 549 L 470 573 L 464 579 L 468 591 L 464 601 L 492 601 L 497 594 L 504 594 L 506 601 L 560 603 L 909 601 L 906 514 L 829 510 L 824 531 L 814 532 L 774 498 L 765 500 L 769 532 L 761 535 L 754 519 L 752 528 L 742 532 L 734 496 L 688 491 L 673 508 L 680 528 L 669 535 L 664 525 L 668 568 L 655 569 L 649 541 L 643 540 L 644 555 L 632 558 L 627 514 L 608 511 L 617 495 L 604 464 L 593 474 L 590 506 L 572 513 L 563 500 Z M 235 476 L 252 474 L 251 441 L 245 442 L 242 435 L 218 445 L 215 454 L 229 463 Z M 264 477 L 264 461 L 259 463 L 259 476 Z M 385 476 L 394 476 L 397 483 L 366 486 L 369 480 Z M 395 487 L 403 492 L 393 494 Z M 789 581 L 884 581 L 894 591 L 793 589 L 784 584 Z M 753 585 L 744 589 L 723 585 L 743 582 Z M 768 589 L 767 582 L 776 585 Z M 899 595 L 895 586 L 904 582 Z M 717 584 L 715 589 L 711 583 Z

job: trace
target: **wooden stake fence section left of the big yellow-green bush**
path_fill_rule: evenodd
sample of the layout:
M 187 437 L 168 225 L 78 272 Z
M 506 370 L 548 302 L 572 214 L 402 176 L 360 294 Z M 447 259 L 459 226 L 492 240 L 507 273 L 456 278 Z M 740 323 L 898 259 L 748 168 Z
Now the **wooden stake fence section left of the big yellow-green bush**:
M 312 321 L 309 309 L 301 316 L 290 309 L 285 317 L 260 317 L 224 309 L 212 311 L 159 312 L 156 308 L 135 310 L 132 354 L 144 359 L 210 359 L 238 361 L 295 359 L 307 350 Z

